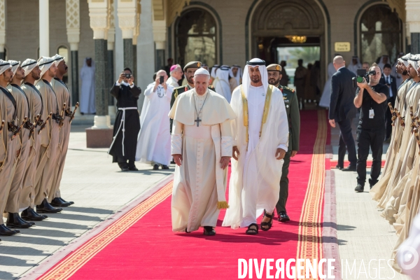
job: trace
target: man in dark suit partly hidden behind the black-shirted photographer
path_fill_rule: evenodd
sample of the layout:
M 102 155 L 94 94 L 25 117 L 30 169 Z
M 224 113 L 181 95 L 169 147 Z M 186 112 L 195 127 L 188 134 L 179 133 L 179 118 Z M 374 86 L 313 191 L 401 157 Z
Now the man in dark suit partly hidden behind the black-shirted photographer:
M 382 85 L 386 85 L 389 88 L 389 97 L 386 104 L 388 104 L 388 102 L 391 102 L 392 107 L 394 107 L 395 96 L 398 94 L 397 79 L 395 78 L 395 76 L 391 75 L 392 73 L 391 64 L 388 64 L 388 63 L 385 64 L 384 69 L 381 69 L 381 70 L 382 70 L 382 76 L 381 76 L 381 80 L 379 80 L 379 83 L 381 83 Z M 385 142 L 389 143 L 391 141 L 391 133 L 392 133 L 392 114 L 390 110 L 386 110 L 385 119 L 386 119 Z

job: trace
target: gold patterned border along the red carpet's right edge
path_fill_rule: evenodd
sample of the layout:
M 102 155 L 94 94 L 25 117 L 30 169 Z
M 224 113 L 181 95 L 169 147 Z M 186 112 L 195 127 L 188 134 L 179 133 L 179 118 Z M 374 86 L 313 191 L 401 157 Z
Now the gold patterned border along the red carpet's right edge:
M 307 193 L 300 214 L 296 259 L 321 260 L 322 217 L 325 180 L 325 143 L 327 140 L 327 120 L 325 111 L 318 111 L 318 131 L 314 144 Z M 303 269 L 303 272 L 306 268 Z

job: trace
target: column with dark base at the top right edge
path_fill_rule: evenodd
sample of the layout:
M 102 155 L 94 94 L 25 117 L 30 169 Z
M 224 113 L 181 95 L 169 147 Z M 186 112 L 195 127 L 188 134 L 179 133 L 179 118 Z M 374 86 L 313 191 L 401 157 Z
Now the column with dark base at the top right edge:
M 407 36 L 411 41 L 410 52 L 420 53 L 420 2 L 418 0 L 405 1 Z

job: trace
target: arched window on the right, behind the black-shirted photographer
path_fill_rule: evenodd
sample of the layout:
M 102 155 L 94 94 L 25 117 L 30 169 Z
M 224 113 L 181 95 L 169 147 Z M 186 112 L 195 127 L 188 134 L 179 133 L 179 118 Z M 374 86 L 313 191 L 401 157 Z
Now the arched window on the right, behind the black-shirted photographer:
M 360 16 L 360 57 L 363 62 L 375 62 L 388 55 L 395 62 L 402 51 L 402 22 L 388 5 L 377 4 L 367 8 Z

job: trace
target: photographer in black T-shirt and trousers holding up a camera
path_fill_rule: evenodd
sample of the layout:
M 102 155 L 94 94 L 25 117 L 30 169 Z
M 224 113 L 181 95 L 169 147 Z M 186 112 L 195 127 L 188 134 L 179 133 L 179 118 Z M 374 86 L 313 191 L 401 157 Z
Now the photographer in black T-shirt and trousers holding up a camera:
M 366 160 L 369 149 L 372 149 L 372 169 L 370 170 L 370 188 L 378 181 L 381 173 L 381 157 L 385 137 L 385 112 L 388 108 L 386 100 L 389 97 L 389 89 L 379 83 L 381 69 L 377 64 L 370 67 L 367 75 L 370 75 L 369 83 L 363 77 L 358 77 L 358 89 L 354 98 L 354 106 L 360 108 L 360 119 L 357 127 L 357 186 L 354 189 L 363 193 L 366 181 Z

